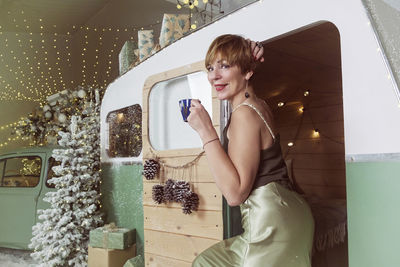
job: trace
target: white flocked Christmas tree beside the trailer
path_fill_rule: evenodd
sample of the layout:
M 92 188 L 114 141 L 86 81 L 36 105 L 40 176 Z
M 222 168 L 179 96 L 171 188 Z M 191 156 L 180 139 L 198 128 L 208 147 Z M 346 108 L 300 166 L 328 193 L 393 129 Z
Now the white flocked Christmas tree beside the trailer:
M 100 206 L 99 96 L 73 116 L 69 132 L 59 132 L 63 149 L 53 151 L 56 192 L 44 198 L 51 208 L 39 211 L 31 254 L 39 266 L 87 266 L 89 231 L 102 225 Z

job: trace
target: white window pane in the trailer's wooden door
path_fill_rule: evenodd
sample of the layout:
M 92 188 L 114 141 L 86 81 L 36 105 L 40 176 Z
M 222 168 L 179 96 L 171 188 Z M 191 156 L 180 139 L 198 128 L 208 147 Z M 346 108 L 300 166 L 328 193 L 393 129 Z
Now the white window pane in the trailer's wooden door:
M 149 95 L 149 139 L 156 150 L 201 147 L 198 134 L 183 121 L 179 100 L 201 100 L 212 118 L 212 91 L 203 71 L 156 83 Z

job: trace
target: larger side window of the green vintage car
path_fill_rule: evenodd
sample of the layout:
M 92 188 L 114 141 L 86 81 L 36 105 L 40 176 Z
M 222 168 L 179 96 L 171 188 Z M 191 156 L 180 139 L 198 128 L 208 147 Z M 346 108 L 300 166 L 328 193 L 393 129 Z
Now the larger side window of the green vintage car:
M 5 159 L 2 163 L 2 187 L 35 187 L 40 180 L 42 159 L 37 156 Z

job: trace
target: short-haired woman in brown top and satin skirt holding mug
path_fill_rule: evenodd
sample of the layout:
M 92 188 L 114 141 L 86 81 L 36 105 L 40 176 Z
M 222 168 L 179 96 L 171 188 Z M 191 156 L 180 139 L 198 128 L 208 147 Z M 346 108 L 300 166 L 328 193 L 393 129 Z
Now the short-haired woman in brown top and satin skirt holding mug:
M 254 93 L 251 77 L 263 53 L 254 46 L 222 35 L 206 55 L 211 86 L 232 106 L 225 149 L 200 101 L 190 108 L 188 123 L 203 142 L 217 187 L 230 206 L 240 205 L 244 228 L 202 252 L 192 266 L 311 266 L 314 221 L 307 203 L 290 189 L 271 109 Z

